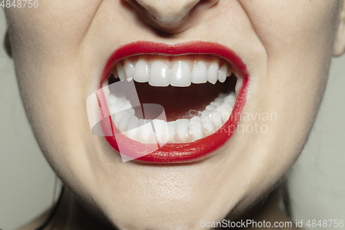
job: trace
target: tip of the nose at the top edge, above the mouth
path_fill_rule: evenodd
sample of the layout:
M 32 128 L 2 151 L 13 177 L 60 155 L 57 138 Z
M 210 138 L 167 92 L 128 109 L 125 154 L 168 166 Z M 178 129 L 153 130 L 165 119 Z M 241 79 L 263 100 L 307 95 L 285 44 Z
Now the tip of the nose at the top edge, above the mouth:
M 181 32 L 196 11 L 213 6 L 218 0 L 126 0 L 136 8 L 143 21 L 164 32 Z M 177 31 L 178 30 L 178 31 Z

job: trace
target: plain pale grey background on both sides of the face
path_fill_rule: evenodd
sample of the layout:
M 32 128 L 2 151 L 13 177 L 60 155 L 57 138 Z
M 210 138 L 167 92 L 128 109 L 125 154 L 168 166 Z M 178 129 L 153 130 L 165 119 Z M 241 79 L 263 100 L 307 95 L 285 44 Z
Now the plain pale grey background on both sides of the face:
M 23 111 L 13 61 L 2 46 L 5 28 L 0 10 L 0 229 L 9 230 L 50 207 L 55 175 Z M 289 175 L 293 220 L 345 220 L 344 86 L 345 56 L 333 59 L 313 133 Z

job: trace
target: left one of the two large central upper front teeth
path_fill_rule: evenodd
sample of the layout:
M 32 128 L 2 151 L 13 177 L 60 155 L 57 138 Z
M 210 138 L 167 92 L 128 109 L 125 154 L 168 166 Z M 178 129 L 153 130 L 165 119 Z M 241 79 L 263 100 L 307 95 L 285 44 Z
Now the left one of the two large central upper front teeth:
M 168 86 L 170 83 L 170 70 L 163 61 L 155 61 L 150 68 L 148 84 L 151 86 Z

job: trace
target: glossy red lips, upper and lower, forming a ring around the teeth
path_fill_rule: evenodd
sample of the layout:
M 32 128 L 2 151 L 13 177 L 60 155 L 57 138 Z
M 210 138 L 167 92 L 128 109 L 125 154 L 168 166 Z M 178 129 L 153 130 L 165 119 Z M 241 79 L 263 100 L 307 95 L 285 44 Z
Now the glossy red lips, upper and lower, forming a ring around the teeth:
M 226 61 L 233 66 L 234 70 L 239 74 L 239 76 L 244 78 L 243 86 L 228 122 L 226 122 L 226 124 L 224 124 L 219 131 L 213 133 L 212 135 L 186 144 L 166 144 L 152 153 L 148 153 L 150 152 L 150 149 L 152 149 L 152 145 L 136 142 L 125 135 L 117 135 L 117 139 L 115 138 L 115 135 L 106 137 L 106 140 L 113 148 L 115 148 L 117 153 L 119 152 L 118 143 L 121 143 L 121 145 L 128 146 L 126 153 L 121 154 L 127 155 L 128 157 L 139 162 L 158 164 L 192 162 L 207 157 L 233 135 L 239 122 L 240 115 L 242 114 L 244 104 L 246 103 L 248 83 L 248 71 L 246 69 L 246 65 L 244 65 L 243 61 L 235 54 L 235 52 L 226 46 L 207 41 L 190 41 L 175 45 L 162 44 L 152 41 L 137 41 L 125 46 L 121 46 L 115 50 L 115 52 L 108 59 L 106 67 L 103 70 L 101 82 L 103 82 L 103 80 L 110 75 L 112 69 L 119 60 L 132 55 L 140 54 L 171 56 L 186 54 L 217 55 L 226 59 Z M 107 117 L 106 119 L 101 120 L 103 131 L 112 131 L 112 133 L 116 133 L 114 131 L 116 131 L 117 128 L 115 124 L 112 123 L 103 93 L 99 95 L 99 102 L 101 104 L 103 116 Z

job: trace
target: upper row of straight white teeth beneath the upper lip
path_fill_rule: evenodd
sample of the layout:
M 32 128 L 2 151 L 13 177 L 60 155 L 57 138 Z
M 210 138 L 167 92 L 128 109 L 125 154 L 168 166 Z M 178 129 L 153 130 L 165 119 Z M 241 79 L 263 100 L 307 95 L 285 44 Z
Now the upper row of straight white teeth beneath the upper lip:
M 210 82 L 225 82 L 232 68 L 224 60 L 213 57 L 155 57 L 148 55 L 127 58 L 117 64 L 114 70 L 119 79 L 133 78 L 136 82 L 148 82 L 151 86 L 179 86 Z

